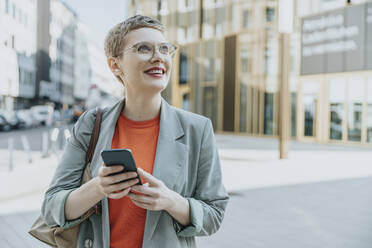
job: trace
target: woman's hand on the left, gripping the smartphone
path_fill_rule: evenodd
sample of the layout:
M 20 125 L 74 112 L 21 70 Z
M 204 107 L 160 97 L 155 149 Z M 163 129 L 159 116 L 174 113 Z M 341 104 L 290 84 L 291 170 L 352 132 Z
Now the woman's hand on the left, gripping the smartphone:
M 123 172 L 117 175 L 111 175 L 122 170 L 122 165 L 106 166 L 104 163 L 102 164 L 96 178 L 97 189 L 102 197 L 112 199 L 122 198 L 129 193 L 131 186 L 138 183 L 136 172 Z M 119 183 L 127 179 L 131 180 Z

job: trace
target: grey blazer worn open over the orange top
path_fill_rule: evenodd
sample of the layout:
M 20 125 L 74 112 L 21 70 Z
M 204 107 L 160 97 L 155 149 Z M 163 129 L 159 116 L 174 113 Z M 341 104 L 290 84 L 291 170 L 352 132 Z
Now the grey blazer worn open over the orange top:
M 90 164 L 93 177 L 102 164 L 100 152 L 111 148 L 115 125 L 124 105 L 125 100 L 121 99 L 103 110 L 101 132 Z M 95 110 L 89 110 L 75 124 L 45 193 L 42 215 L 50 226 L 70 227 L 78 221 L 65 219 L 65 201 L 69 193 L 81 185 L 95 114 Z M 195 236 L 211 235 L 219 229 L 229 197 L 222 184 L 209 119 L 172 107 L 162 99 L 153 175 L 189 201 L 191 224 L 181 226 L 166 211 L 147 211 L 142 247 L 196 247 Z M 102 215 L 93 214 L 80 226 L 79 248 L 110 247 L 107 198 L 101 203 Z

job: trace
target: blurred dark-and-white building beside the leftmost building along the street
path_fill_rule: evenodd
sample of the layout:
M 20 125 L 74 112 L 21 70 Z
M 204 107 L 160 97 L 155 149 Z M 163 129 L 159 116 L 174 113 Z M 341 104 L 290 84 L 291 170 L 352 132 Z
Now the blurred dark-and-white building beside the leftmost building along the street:
M 77 14 L 63 1 L 38 0 L 36 101 L 74 103 Z

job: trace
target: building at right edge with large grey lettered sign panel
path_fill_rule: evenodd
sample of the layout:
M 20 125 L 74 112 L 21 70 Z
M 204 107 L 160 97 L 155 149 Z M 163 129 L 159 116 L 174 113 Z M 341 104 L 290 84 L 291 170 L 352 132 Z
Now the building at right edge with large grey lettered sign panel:
M 371 145 L 372 2 L 314 2 L 299 13 L 300 138 Z

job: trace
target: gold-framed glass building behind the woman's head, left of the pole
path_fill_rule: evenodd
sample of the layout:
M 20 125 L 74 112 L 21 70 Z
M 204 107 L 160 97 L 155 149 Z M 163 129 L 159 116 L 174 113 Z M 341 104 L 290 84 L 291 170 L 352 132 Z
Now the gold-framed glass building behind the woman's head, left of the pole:
M 174 105 L 209 117 L 219 132 L 276 135 L 276 9 L 274 0 L 143 0 L 129 13 L 158 18 L 180 45 Z

